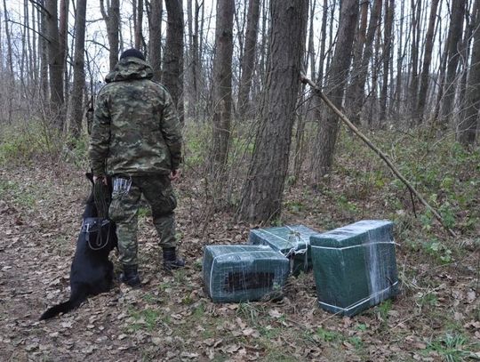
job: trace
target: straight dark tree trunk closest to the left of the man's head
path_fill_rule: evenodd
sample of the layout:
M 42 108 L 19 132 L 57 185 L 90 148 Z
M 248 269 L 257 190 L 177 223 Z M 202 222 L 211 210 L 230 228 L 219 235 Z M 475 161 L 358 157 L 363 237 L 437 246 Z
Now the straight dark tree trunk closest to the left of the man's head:
M 75 17 L 75 55 L 74 55 L 74 80 L 72 89 L 71 126 L 72 135 L 78 138 L 82 133 L 82 119 L 84 116 L 84 52 L 85 52 L 85 14 L 87 0 L 76 0 Z

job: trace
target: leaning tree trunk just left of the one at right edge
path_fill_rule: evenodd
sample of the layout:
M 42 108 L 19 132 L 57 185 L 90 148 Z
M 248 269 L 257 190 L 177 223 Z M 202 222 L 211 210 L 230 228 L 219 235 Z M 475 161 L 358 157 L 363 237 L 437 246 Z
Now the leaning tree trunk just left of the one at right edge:
M 448 30 L 448 63 L 446 68 L 446 77 L 444 84 L 444 101 L 442 103 L 441 117 L 439 118 L 440 127 L 446 129 L 452 118 L 453 106 L 455 101 L 455 78 L 457 76 L 457 66 L 460 60 L 461 35 L 463 30 L 463 19 L 465 14 L 466 0 L 455 0 L 452 4 L 452 15 L 450 28 Z

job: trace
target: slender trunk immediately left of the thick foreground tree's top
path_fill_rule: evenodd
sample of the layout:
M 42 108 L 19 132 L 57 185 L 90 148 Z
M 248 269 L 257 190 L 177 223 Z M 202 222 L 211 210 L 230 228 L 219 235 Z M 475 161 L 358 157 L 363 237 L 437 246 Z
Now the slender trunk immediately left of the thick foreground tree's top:
M 243 118 L 249 108 L 249 94 L 252 86 L 255 50 L 259 34 L 260 0 L 249 0 L 247 14 L 247 28 L 244 43 L 244 56 L 241 60 L 242 77 L 238 89 L 239 116 Z

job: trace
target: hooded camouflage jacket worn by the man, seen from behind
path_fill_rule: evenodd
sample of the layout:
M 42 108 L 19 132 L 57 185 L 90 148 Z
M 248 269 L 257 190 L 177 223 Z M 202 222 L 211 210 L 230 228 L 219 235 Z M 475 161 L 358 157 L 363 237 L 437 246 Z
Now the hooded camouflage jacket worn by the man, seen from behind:
M 90 141 L 95 175 L 170 173 L 180 165 L 181 128 L 170 93 L 144 60 L 119 60 L 97 98 Z

